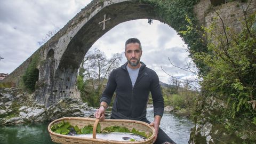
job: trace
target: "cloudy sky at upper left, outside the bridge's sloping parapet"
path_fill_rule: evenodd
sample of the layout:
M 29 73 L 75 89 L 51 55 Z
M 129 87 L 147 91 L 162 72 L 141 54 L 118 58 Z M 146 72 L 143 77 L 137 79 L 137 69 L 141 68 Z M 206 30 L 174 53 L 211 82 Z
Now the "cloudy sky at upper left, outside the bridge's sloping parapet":
M 90 1 L 0 1 L 0 73 L 11 73 Z

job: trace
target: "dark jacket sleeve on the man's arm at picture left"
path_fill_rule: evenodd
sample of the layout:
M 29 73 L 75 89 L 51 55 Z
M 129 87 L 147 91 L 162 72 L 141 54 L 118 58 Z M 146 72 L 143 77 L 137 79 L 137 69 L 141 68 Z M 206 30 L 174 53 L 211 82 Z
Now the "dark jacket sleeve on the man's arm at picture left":
M 108 83 L 107 83 L 106 89 L 103 91 L 101 95 L 100 102 L 105 101 L 108 103 L 108 106 L 109 106 L 115 90 L 116 90 L 115 71 L 113 70 L 111 71 L 108 77 Z

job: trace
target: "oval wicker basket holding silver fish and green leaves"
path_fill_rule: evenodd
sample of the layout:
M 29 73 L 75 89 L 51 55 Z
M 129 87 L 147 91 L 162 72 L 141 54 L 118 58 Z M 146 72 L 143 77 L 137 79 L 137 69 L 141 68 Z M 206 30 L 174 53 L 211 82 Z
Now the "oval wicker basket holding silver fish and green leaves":
M 48 126 L 57 143 L 153 143 L 155 130 L 149 124 L 128 119 L 63 117 Z

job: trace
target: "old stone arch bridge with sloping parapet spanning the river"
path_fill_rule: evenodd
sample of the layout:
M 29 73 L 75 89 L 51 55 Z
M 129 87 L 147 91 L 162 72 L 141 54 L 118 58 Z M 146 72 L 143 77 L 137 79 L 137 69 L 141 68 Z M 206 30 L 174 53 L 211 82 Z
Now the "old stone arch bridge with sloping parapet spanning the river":
M 136 19 L 154 19 L 168 23 L 161 18 L 154 9 L 154 3 L 135 0 L 93 0 L 85 6 L 81 12 L 71 19 L 65 27 L 55 34 L 48 42 L 31 55 L 17 69 L 15 69 L 5 82 L 14 82 L 22 87 L 22 75 L 30 63 L 38 59 L 39 71 L 36 83 L 36 100 L 44 103 L 46 107 L 61 97 L 73 97 L 79 99 L 76 88 L 76 77 L 79 65 L 86 52 L 102 35 L 119 23 Z M 210 25 L 215 14 L 211 11 L 211 5 L 218 5 L 224 1 L 201 0 L 194 6 L 199 25 Z M 225 20 L 229 25 L 241 29 L 241 23 L 236 20 L 243 15 L 238 2 L 230 2 L 216 6 L 225 14 Z M 243 3 L 246 7 L 247 3 Z M 255 0 L 252 1 L 248 13 L 255 12 Z M 231 17 L 232 15 L 237 17 Z

